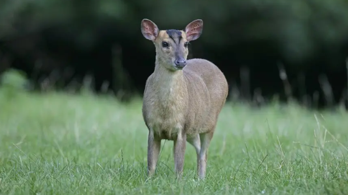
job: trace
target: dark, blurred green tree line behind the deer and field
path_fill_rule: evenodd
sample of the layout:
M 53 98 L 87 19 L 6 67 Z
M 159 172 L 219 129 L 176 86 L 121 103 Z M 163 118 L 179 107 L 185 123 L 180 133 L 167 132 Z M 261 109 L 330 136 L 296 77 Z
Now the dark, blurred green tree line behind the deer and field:
M 189 57 L 220 67 L 231 98 L 332 105 L 347 100 L 347 10 L 347 0 L 2 0 L 0 73 L 21 70 L 35 88 L 92 75 L 97 92 L 129 98 L 154 67 L 141 19 L 160 29 L 203 19 Z

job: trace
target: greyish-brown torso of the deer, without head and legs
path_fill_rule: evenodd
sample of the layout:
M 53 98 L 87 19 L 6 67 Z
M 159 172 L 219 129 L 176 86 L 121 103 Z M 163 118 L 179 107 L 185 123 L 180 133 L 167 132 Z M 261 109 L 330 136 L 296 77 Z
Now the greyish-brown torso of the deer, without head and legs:
M 146 126 L 160 139 L 192 138 L 214 129 L 228 85 L 223 73 L 205 59 L 191 59 L 182 71 L 160 66 L 149 76 L 143 98 Z

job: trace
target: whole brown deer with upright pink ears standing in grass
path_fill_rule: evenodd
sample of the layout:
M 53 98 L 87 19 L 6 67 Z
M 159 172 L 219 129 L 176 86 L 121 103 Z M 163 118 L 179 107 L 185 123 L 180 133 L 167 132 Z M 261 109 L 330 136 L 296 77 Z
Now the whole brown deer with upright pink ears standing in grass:
M 206 59 L 187 60 L 189 42 L 198 39 L 203 21 L 185 30 L 159 30 L 151 20 L 141 21 L 142 35 L 156 48 L 154 72 L 145 85 L 142 115 L 148 128 L 147 174 L 153 175 L 161 140 L 174 141 L 174 170 L 181 178 L 186 142 L 197 152 L 197 172 L 206 174 L 207 153 L 228 84 L 220 69 Z

